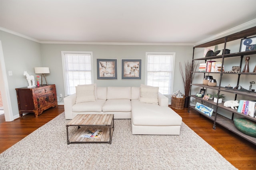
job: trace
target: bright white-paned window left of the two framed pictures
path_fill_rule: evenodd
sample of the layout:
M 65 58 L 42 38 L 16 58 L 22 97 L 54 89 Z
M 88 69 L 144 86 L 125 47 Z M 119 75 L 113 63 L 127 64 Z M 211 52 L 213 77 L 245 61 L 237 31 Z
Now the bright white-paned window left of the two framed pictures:
M 93 83 L 92 52 L 62 51 L 65 95 L 76 93 L 76 86 Z

